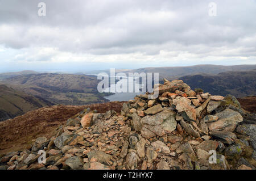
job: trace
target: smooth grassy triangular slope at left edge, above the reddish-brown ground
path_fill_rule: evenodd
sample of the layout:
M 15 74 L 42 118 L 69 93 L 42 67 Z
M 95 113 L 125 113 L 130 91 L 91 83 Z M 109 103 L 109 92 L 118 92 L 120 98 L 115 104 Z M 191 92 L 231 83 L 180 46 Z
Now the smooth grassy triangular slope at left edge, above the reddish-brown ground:
M 0 85 L 0 121 L 12 119 L 28 111 L 50 105 L 52 103 L 48 100 Z

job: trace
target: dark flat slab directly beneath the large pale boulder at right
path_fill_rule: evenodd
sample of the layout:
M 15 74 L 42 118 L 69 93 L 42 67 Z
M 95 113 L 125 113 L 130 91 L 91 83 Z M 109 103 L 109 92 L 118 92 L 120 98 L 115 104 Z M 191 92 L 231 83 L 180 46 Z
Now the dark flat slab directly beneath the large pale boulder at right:
M 209 132 L 210 136 L 213 138 L 216 138 L 219 141 L 224 142 L 224 144 L 231 145 L 234 143 L 235 139 L 237 139 L 236 134 L 232 132 L 227 132 L 227 131 L 214 131 L 214 132 Z

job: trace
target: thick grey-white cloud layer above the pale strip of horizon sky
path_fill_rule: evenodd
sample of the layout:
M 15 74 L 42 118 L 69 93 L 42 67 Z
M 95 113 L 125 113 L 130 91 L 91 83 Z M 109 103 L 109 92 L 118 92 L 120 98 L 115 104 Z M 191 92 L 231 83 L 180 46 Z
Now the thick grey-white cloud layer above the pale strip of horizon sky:
M 46 17 L 37 15 L 39 2 L 47 5 Z M 170 57 L 184 52 L 199 57 L 255 56 L 256 2 L 214 1 L 214 17 L 208 15 L 209 2 L 0 0 L 0 45 L 96 56 L 152 56 L 161 50 Z

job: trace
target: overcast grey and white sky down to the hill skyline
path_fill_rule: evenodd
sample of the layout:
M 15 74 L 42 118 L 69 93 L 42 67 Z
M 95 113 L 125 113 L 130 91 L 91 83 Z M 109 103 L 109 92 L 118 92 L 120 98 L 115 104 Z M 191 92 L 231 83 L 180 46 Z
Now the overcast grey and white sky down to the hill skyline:
M 256 0 L 0 0 L 0 72 L 197 64 L 256 64 Z

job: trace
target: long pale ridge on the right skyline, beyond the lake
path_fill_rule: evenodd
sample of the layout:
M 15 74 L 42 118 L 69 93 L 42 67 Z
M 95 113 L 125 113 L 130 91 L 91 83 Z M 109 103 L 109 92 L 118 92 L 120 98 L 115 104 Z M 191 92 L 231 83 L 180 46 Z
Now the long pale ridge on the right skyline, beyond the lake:
M 142 68 L 126 71 L 137 73 L 159 73 L 159 78 L 176 79 L 185 75 L 197 73 L 218 74 L 225 71 L 245 71 L 256 69 L 256 65 L 194 65 L 194 66 L 176 66 L 159 68 Z

